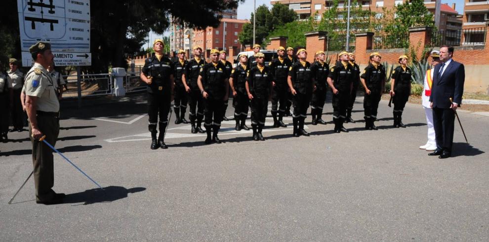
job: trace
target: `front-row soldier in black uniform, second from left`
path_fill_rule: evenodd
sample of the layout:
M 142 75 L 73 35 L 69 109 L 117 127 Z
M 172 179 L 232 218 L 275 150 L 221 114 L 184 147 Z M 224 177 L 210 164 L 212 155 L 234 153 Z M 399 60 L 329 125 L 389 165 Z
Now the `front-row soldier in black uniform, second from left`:
M 226 73 L 226 67 L 219 61 L 219 51 L 210 50 L 210 63 L 204 65 L 199 73 L 197 84 L 204 97 L 205 120 L 204 126 L 207 132 L 206 144 L 211 142 L 221 143 L 217 137 L 221 127 L 222 109 L 224 101 L 229 95 L 229 79 Z M 210 138 L 211 131 L 212 139 Z

